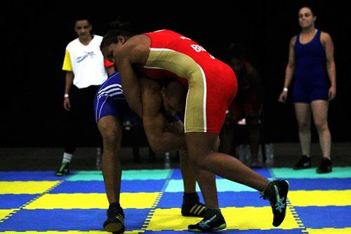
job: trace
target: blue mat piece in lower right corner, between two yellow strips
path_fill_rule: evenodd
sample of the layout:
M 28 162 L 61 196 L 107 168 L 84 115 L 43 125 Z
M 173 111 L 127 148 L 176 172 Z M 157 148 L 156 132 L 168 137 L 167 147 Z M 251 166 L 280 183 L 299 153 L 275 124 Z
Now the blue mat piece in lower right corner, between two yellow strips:
M 295 207 L 295 209 L 306 228 L 347 228 L 351 224 L 351 206 Z

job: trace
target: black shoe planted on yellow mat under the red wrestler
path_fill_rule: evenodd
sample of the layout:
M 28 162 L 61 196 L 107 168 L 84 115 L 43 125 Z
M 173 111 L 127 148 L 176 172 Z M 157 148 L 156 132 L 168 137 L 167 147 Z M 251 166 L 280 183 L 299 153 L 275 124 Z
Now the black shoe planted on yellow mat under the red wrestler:
M 205 217 L 197 224 L 190 224 L 187 230 L 192 232 L 211 232 L 213 230 L 222 230 L 227 228 L 227 223 L 220 213 L 220 209 L 206 209 Z

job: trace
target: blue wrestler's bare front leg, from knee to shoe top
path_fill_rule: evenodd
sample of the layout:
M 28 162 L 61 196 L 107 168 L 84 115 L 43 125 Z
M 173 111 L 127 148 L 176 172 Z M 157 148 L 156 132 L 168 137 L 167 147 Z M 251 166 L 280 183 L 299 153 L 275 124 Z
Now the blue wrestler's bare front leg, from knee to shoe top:
M 102 135 L 102 175 L 109 203 L 118 202 L 121 192 L 121 137 L 122 126 L 119 119 L 113 116 L 102 117 L 98 122 Z

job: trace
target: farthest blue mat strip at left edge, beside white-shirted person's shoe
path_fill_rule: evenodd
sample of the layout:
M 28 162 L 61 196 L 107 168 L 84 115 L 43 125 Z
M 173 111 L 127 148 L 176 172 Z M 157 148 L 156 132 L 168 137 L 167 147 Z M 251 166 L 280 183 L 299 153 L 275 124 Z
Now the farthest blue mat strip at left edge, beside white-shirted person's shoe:
M 0 181 L 62 181 L 62 179 L 65 177 L 55 176 L 55 171 L 0 171 Z

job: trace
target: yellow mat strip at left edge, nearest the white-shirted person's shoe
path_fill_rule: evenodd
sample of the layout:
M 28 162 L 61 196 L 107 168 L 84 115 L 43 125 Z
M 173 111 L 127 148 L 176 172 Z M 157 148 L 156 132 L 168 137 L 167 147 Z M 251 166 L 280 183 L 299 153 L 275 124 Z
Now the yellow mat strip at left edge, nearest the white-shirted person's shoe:
M 0 181 L 0 194 L 37 194 L 44 193 L 60 181 Z

